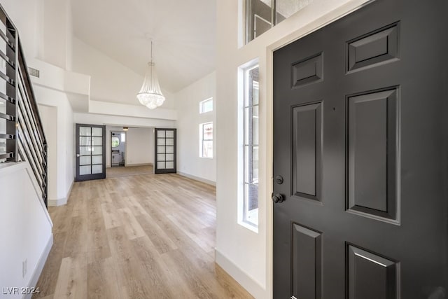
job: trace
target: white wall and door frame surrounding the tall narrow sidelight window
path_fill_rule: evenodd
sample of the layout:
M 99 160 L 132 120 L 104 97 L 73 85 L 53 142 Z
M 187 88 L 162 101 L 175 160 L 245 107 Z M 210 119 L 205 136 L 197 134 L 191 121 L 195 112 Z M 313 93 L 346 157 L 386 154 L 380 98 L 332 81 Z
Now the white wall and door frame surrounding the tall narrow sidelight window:
M 216 262 L 255 298 L 272 298 L 272 50 L 353 11 L 365 0 L 314 0 L 276 27 L 241 46 L 242 0 L 217 1 Z M 237 224 L 238 68 L 260 62 L 258 233 Z M 237 246 L 235 246 L 237 244 Z

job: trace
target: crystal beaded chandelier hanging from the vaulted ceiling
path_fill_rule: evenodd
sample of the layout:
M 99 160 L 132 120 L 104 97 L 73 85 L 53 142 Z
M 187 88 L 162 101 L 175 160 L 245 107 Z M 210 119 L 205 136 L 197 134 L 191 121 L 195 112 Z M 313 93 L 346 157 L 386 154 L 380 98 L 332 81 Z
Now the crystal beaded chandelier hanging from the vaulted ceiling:
M 160 90 L 157 74 L 155 74 L 155 63 L 153 62 L 153 41 L 151 40 L 151 62 L 148 62 L 146 67 L 145 80 L 141 85 L 140 92 L 137 93 L 137 99 L 140 104 L 148 107 L 149 109 L 155 109 L 162 105 L 165 101 L 165 97 Z

